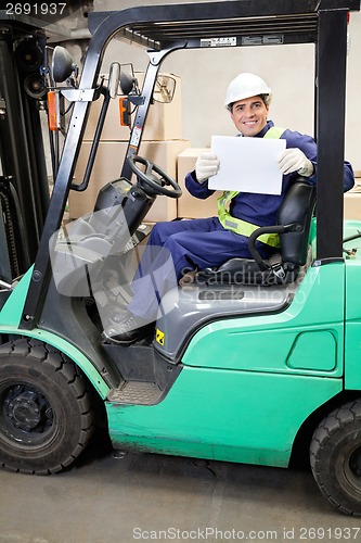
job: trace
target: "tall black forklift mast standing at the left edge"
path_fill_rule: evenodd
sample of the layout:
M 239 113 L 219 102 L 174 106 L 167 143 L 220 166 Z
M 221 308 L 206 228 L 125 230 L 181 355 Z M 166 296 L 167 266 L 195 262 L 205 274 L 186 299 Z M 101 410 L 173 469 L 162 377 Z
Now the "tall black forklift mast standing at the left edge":
M 39 116 L 44 42 L 31 34 L 16 26 L 0 33 L 0 266 L 8 281 L 34 261 L 49 205 Z

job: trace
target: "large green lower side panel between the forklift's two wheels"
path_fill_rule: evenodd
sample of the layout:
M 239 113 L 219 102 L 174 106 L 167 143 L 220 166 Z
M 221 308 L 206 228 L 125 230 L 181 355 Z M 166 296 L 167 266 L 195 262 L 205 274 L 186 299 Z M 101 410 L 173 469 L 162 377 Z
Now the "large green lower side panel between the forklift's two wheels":
M 339 379 L 185 367 L 157 405 L 107 404 L 115 447 L 286 467 L 310 413 Z

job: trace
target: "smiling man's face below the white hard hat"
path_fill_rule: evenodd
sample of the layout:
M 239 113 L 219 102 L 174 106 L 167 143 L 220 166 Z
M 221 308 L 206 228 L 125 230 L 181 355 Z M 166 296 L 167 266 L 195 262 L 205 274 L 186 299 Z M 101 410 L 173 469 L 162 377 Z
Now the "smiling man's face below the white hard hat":
M 231 118 L 243 136 L 256 136 L 266 126 L 268 110 L 260 97 L 245 98 L 234 102 Z

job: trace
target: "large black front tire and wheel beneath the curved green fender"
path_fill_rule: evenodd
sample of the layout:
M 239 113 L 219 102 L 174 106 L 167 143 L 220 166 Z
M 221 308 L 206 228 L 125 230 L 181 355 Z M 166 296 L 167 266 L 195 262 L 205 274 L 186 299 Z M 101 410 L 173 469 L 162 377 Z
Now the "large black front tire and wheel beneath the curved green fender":
M 0 466 L 48 475 L 70 465 L 93 432 L 88 382 L 60 351 L 21 339 L 0 348 Z

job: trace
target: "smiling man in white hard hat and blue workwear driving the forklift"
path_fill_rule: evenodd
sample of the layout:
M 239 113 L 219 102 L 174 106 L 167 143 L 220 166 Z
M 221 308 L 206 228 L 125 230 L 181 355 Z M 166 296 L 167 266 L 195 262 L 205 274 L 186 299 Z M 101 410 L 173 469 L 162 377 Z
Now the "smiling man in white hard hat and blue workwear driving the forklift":
M 106 341 L 127 345 L 140 340 L 146 325 L 156 319 L 159 300 L 185 270 L 219 266 L 232 257 L 249 258 L 248 237 L 255 226 L 275 224 L 278 209 L 295 178 L 301 176 L 305 182 L 317 182 L 315 141 L 268 121 L 271 98 L 272 91 L 263 79 L 242 73 L 230 83 L 224 105 L 240 132 L 237 136 L 286 140 L 286 149 L 279 157 L 283 174 L 281 194 L 224 192 L 218 200 L 217 217 L 156 224 L 132 282 L 133 298 L 125 315 L 115 311 L 103 332 Z M 208 188 L 208 179 L 218 169 L 215 153 L 201 154 L 195 171 L 185 178 L 189 192 L 199 199 L 210 197 L 214 190 Z M 352 167 L 345 162 L 344 190 L 351 189 L 353 184 Z M 256 247 L 267 257 L 278 243 L 274 235 L 268 235 Z

